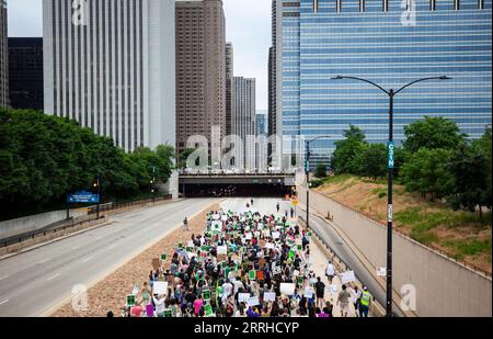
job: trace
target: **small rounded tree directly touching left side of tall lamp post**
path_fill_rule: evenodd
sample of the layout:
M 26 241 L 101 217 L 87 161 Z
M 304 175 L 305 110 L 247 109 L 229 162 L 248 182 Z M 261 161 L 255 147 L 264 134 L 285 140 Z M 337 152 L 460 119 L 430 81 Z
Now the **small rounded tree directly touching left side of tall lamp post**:
M 385 177 L 387 173 L 387 147 L 383 144 L 370 144 L 356 155 L 357 173 L 372 179 Z

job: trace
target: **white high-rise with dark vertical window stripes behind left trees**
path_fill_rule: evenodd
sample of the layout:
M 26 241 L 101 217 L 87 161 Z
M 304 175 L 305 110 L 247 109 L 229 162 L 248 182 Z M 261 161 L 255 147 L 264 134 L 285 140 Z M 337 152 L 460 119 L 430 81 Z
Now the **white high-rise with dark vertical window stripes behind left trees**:
M 174 1 L 44 0 L 43 11 L 45 112 L 126 150 L 174 145 Z

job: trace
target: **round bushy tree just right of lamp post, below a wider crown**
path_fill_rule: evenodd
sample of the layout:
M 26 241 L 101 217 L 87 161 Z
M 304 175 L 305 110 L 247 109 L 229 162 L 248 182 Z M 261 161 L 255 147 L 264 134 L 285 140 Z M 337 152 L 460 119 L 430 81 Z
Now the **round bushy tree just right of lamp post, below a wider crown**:
M 423 197 L 431 194 L 432 201 L 450 194 L 455 182 L 448 169 L 450 155 L 447 149 L 421 148 L 410 156 L 401 171 L 405 189 L 420 192 Z

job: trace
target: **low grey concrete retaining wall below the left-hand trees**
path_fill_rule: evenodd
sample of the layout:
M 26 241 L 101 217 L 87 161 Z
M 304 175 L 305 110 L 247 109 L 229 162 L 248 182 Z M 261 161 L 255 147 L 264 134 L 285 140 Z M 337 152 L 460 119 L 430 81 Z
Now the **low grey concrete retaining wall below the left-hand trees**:
M 87 215 L 88 212 L 71 210 L 71 217 Z M 36 230 L 51 224 L 64 221 L 67 217 L 67 211 L 54 211 L 36 215 L 20 217 L 0 222 L 0 239 L 15 236 L 19 234 Z

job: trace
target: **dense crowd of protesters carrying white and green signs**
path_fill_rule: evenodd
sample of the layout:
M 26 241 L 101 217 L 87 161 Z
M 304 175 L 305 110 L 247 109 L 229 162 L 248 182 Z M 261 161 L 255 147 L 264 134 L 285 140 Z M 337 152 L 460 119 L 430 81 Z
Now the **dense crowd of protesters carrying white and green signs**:
M 335 294 L 334 315 L 328 286 L 312 270 L 311 234 L 286 215 L 221 210 L 210 212 L 205 226 L 169 253 L 171 263 L 163 255 L 148 281 L 127 296 L 126 316 L 330 318 L 348 316 L 349 306 L 368 316 L 369 293 L 346 285 Z M 331 262 L 324 273 L 332 284 Z

